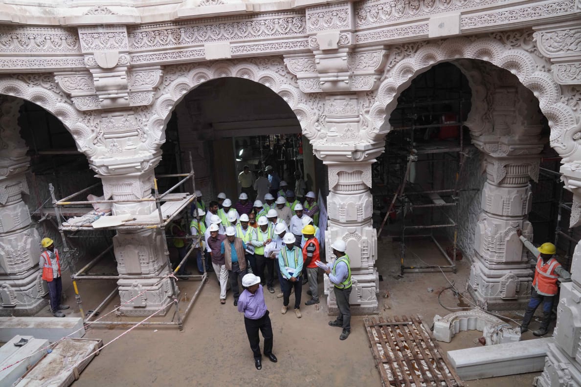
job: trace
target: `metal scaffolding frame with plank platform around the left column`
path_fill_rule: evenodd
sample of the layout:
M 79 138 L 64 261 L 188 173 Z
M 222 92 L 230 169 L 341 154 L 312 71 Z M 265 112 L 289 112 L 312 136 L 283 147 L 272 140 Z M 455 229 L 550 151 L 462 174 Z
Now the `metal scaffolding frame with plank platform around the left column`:
M 55 196 L 55 188 L 52 185 L 52 183 L 49 184 L 49 190 L 50 190 L 51 196 L 52 196 L 52 204 L 53 204 L 53 208 L 55 209 L 56 219 L 58 221 L 58 229 L 59 229 L 59 233 L 60 233 L 60 236 L 62 238 L 62 241 L 63 241 L 64 259 L 67 260 L 66 262 L 69 265 L 69 270 L 71 272 L 70 277 L 71 277 L 71 280 L 73 281 L 73 288 L 74 288 L 74 292 L 75 292 L 76 302 L 79 306 L 79 310 L 81 312 L 81 315 L 83 316 L 83 323 L 85 325 L 85 328 L 88 327 L 88 325 L 135 325 L 135 324 L 139 324 L 139 325 L 176 325 L 180 330 L 183 329 L 184 320 L 188 316 L 189 310 L 191 310 L 193 303 L 196 301 L 200 291 L 202 290 L 203 284 L 205 284 L 206 280 L 207 280 L 206 263 L 204 262 L 204 260 L 202 260 L 203 269 L 204 269 L 203 274 L 190 275 L 190 276 L 180 276 L 180 277 L 188 277 L 188 278 L 200 280 L 200 284 L 196 288 L 196 291 L 193 294 L 191 300 L 188 302 L 188 305 L 186 306 L 186 309 L 184 311 L 184 316 L 182 317 L 182 315 L 180 313 L 178 290 L 177 290 L 177 285 L 175 284 L 174 274 L 176 274 L 178 272 L 178 270 L 180 270 L 181 266 L 184 265 L 185 261 L 187 261 L 189 256 L 192 254 L 193 250 L 195 250 L 195 248 L 193 247 L 194 246 L 193 243 L 192 243 L 191 247 L 189 248 L 187 254 L 181 260 L 181 262 L 171 272 L 171 275 L 168 275 L 168 276 L 163 276 L 163 275 L 132 276 L 130 274 L 110 274 L 110 275 L 91 276 L 91 275 L 87 275 L 84 273 L 86 273 L 87 270 L 91 269 L 91 267 L 95 266 L 99 261 L 101 261 L 103 256 L 105 256 L 107 254 L 107 252 L 109 252 L 113 248 L 113 245 L 110 245 L 109 247 L 107 247 L 105 249 L 105 251 L 101 252 L 101 254 L 97 255 L 94 259 L 92 259 L 90 262 L 88 262 L 87 265 L 83 266 L 80 270 L 77 271 L 76 267 L 74 265 L 74 260 L 71 258 L 71 254 L 70 254 L 71 249 L 69 248 L 69 244 L 67 244 L 66 233 L 67 232 L 77 232 L 77 231 L 98 231 L 98 230 L 145 230 L 145 229 L 165 230 L 166 227 L 171 224 L 171 222 L 173 221 L 175 216 L 177 216 L 182 211 L 184 211 L 184 209 L 187 208 L 187 206 L 189 204 L 191 204 L 193 201 L 196 200 L 196 196 L 195 196 L 196 187 L 195 187 L 195 181 L 194 181 L 193 162 L 192 162 L 191 153 L 189 154 L 189 164 L 190 164 L 190 172 L 189 173 L 173 173 L 173 174 L 155 176 L 153 178 L 154 194 L 153 194 L 153 197 L 150 197 L 150 198 L 142 198 L 142 199 L 135 199 L 135 200 L 116 199 L 116 200 L 71 201 L 71 199 L 79 196 L 80 194 L 86 193 L 86 192 L 90 191 L 91 189 L 95 188 L 96 186 L 99 186 L 99 184 L 101 184 L 101 183 L 96 183 L 95 185 L 89 186 L 89 187 L 82 189 L 80 191 L 77 191 L 76 193 L 73 193 L 67 197 L 64 197 L 60 200 L 57 200 L 56 196 Z M 172 186 L 170 189 L 168 189 L 164 193 L 160 194 L 159 190 L 157 189 L 157 179 L 158 178 L 182 178 L 182 179 L 178 183 L 176 183 L 174 186 Z M 188 182 L 188 180 L 191 180 L 191 182 L 192 182 L 193 194 L 188 194 L 188 193 L 171 194 L 172 191 L 174 191 L 178 187 L 184 185 L 186 182 Z M 166 215 L 167 218 L 164 219 L 164 215 L 162 213 L 162 204 L 161 204 L 162 201 L 163 202 L 180 201 L 182 203 L 179 205 L 178 208 L 173 209 L 171 214 Z M 71 226 L 69 224 L 64 224 L 61 221 L 62 209 L 67 207 L 67 206 L 92 205 L 92 204 L 98 204 L 98 203 L 114 204 L 114 203 L 135 203 L 135 202 L 155 202 L 156 209 L 157 209 L 157 215 L 159 216 L 159 219 L 156 222 L 150 222 L 149 220 L 139 222 L 139 221 L 136 221 L 137 220 L 136 218 L 134 218 L 131 222 L 131 225 L 102 227 L 100 229 L 94 229 L 91 225 L 92 222 L 86 223 L 83 225 Z M 96 219 L 98 219 L 98 217 Z M 94 219 L 94 220 L 96 220 L 96 219 Z M 188 219 L 187 215 L 186 215 L 186 219 Z M 166 267 L 170 267 L 170 270 L 171 270 L 171 262 L 170 262 L 170 255 L 169 255 L 169 250 L 168 250 L 168 246 L 167 246 L 167 238 L 173 238 L 173 236 L 167 236 L 164 238 L 164 254 L 166 255 L 166 263 L 164 263 L 164 265 L 161 267 L 162 271 Z M 187 236 L 185 238 L 192 239 L 192 240 L 193 239 L 200 240 L 201 236 Z M 167 306 L 167 308 L 168 309 L 171 308 L 172 305 L 175 307 L 174 316 L 177 317 L 176 321 L 145 321 L 145 322 L 139 322 L 139 323 L 133 322 L 133 321 L 91 321 L 91 319 L 93 317 L 95 317 L 96 314 L 98 314 L 99 310 L 102 309 L 107 304 L 107 302 L 109 302 L 110 299 L 113 298 L 113 296 L 116 294 L 119 287 L 116 287 L 109 295 L 107 295 L 106 298 L 103 299 L 103 301 L 101 303 L 99 303 L 99 305 L 94 310 L 92 310 L 90 314 L 85 315 L 85 312 L 83 310 L 83 303 L 81 301 L 81 295 L 80 295 L 80 292 L 78 291 L 77 281 L 80 281 L 80 280 L 112 280 L 112 279 L 159 279 L 159 280 L 163 280 L 166 277 L 170 281 L 171 296 L 173 297 L 173 302 L 171 302 L 170 305 Z M 155 313 L 157 313 L 157 312 L 155 312 Z M 155 314 L 155 313 L 153 313 L 153 314 Z

